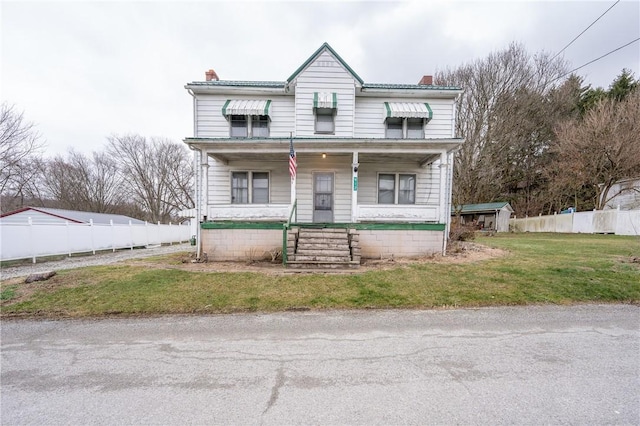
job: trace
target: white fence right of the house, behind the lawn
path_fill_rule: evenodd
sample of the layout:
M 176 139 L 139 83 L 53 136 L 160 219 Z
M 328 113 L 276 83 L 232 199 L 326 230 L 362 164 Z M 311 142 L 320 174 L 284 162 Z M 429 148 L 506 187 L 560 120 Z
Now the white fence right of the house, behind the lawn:
M 640 235 L 640 210 L 594 210 L 509 220 L 514 232 Z

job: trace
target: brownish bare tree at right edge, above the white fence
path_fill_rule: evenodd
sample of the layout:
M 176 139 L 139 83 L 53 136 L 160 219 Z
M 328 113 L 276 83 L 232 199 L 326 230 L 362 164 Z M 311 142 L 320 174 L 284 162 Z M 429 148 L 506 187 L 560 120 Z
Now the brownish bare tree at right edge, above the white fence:
M 590 190 L 601 209 L 615 194 L 619 180 L 640 175 L 640 90 L 626 100 L 601 100 L 583 120 L 562 123 L 554 179 L 574 192 Z

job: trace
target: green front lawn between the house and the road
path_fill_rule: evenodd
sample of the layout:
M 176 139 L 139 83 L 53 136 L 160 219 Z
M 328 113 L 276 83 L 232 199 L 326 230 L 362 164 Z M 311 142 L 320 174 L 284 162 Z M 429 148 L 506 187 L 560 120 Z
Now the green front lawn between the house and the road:
M 506 256 L 416 263 L 350 275 L 193 272 L 110 265 L 59 271 L 21 296 L 3 289 L 2 315 L 101 316 L 296 309 L 436 308 L 638 303 L 640 239 L 615 235 L 504 234 L 478 243 Z M 156 260 L 173 266 L 171 257 Z M 5 299 L 4 291 L 14 294 Z

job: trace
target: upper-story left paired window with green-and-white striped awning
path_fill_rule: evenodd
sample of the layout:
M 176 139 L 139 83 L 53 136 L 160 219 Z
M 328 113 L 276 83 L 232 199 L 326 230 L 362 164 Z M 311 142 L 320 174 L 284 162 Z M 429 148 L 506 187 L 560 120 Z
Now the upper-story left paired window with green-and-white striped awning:
M 269 137 L 270 109 L 270 100 L 228 100 L 222 107 L 222 115 L 229 121 L 229 136 Z

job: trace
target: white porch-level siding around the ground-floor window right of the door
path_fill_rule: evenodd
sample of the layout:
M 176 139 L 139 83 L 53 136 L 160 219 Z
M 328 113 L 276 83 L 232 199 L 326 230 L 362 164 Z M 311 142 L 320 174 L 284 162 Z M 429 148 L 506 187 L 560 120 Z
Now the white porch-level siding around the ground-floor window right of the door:
M 440 173 L 437 163 L 424 168 L 415 163 L 360 163 L 358 204 L 378 203 L 378 173 L 416 175 L 416 204 L 437 206 L 440 202 Z

